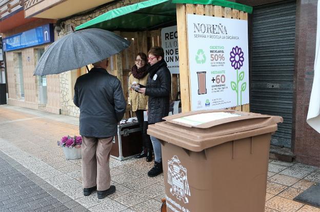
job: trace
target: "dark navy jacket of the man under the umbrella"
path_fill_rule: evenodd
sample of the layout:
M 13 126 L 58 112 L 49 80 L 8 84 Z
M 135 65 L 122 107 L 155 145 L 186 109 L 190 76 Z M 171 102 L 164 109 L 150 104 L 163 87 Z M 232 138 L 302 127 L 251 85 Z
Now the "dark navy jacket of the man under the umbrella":
M 74 104 L 80 108 L 79 130 L 86 137 L 111 137 L 126 111 L 121 82 L 104 68 L 92 68 L 74 85 Z

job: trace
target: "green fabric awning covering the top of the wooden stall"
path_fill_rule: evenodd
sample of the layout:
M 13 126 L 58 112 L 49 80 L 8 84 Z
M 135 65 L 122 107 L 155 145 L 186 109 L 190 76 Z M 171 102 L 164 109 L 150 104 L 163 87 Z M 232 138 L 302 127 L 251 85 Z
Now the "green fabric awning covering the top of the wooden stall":
M 212 4 L 252 13 L 250 6 L 225 0 L 149 0 L 110 10 L 77 26 L 75 30 L 99 28 L 138 32 L 174 26 L 176 25 L 175 4 Z

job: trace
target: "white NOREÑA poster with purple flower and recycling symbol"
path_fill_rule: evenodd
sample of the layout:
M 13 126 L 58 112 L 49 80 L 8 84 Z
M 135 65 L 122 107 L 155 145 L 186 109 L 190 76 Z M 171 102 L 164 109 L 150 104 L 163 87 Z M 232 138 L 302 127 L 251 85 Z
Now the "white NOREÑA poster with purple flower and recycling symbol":
M 188 14 L 191 110 L 249 103 L 246 20 Z

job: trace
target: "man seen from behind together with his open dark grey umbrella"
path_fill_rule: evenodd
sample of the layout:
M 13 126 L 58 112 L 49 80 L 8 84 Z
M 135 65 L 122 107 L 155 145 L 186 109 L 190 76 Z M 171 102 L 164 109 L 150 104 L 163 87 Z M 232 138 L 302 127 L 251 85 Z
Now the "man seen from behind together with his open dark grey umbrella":
M 115 192 L 115 186 L 110 185 L 110 150 L 117 123 L 126 110 L 126 101 L 121 82 L 106 68 L 107 58 L 129 45 L 128 40 L 107 30 L 75 31 L 53 42 L 33 73 L 38 76 L 59 74 L 93 63 L 94 68 L 77 79 L 73 101 L 80 109 L 85 196 L 97 190 L 98 198 L 102 199 Z

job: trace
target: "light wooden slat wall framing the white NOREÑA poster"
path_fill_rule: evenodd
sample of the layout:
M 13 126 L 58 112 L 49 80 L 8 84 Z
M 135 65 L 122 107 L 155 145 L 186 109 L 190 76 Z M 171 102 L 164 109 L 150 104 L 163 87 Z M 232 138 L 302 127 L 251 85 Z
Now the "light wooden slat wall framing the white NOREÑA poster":
M 248 13 L 214 5 L 193 5 L 193 4 L 177 4 L 177 29 L 179 44 L 179 73 L 181 84 L 182 111 L 191 110 L 191 92 L 190 92 L 190 75 L 189 75 L 189 55 L 188 55 L 188 39 L 187 39 L 187 14 L 207 15 L 215 17 L 233 18 L 248 20 Z M 228 109 L 249 112 L 250 105 L 241 105 Z

